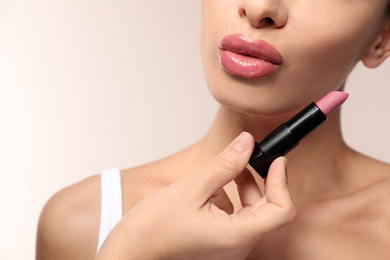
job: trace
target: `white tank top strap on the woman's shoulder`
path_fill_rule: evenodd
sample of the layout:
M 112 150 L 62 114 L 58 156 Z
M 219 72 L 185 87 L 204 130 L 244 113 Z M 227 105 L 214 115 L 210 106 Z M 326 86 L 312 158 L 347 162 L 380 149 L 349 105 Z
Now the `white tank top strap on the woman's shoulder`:
M 122 185 L 118 168 L 101 172 L 101 210 L 98 248 L 102 246 L 110 231 L 122 218 Z

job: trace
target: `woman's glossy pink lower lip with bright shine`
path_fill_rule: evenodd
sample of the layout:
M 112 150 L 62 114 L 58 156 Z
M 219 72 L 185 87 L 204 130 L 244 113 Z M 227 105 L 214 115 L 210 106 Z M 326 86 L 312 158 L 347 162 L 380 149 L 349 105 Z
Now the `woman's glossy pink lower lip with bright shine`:
M 219 49 L 219 60 L 227 72 L 250 79 L 265 77 L 279 68 L 278 64 L 222 49 Z

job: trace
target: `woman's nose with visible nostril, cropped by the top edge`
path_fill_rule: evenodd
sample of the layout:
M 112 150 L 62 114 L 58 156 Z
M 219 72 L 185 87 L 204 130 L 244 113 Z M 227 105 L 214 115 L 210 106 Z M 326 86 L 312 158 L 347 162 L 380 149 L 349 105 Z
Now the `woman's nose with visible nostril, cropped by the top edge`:
M 281 28 L 286 25 L 288 13 L 281 0 L 241 0 L 238 13 L 248 19 L 253 28 Z

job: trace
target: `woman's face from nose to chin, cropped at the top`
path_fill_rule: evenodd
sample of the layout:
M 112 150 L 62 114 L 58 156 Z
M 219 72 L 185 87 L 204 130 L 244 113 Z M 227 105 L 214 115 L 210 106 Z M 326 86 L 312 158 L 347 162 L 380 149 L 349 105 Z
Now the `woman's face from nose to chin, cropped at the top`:
M 385 0 L 203 0 L 201 52 L 210 91 L 222 105 L 263 116 L 318 101 L 342 88 L 372 47 L 383 28 L 385 7 Z M 233 52 L 243 48 L 238 52 L 247 53 L 246 42 L 263 40 L 281 54 L 281 63 L 223 53 L 223 39 L 240 38 L 233 34 L 244 36 L 238 47 L 229 47 Z M 256 70 L 258 64 L 259 70 L 276 70 L 249 78 L 245 70 Z

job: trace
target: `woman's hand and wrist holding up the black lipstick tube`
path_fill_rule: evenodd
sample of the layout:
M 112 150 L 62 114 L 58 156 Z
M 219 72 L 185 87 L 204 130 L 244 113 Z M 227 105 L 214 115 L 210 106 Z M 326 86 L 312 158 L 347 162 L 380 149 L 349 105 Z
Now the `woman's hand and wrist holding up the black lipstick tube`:
M 200 171 L 140 201 L 115 226 L 96 259 L 245 258 L 260 239 L 296 216 L 286 159 L 271 165 L 262 196 L 246 169 L 253 146 L 253 137 L 244 132 Z M 232 180 L 242 204 L 234 214 L 213 203 L 230 203 L 223 186 Z

